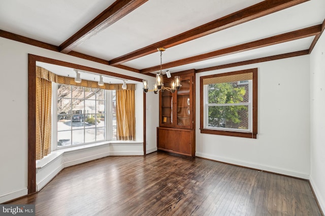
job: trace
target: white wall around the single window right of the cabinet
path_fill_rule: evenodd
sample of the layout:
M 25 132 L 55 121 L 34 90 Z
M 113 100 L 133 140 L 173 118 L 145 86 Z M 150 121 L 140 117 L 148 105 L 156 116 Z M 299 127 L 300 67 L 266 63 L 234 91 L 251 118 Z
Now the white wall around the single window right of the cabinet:
M 200 133 L 200 76 L 258 68 L 257 139 Z M 309 56 L 197 74 L 196 155 L 309 178 Z M 325 90 L 325 88 L 324 88 Z

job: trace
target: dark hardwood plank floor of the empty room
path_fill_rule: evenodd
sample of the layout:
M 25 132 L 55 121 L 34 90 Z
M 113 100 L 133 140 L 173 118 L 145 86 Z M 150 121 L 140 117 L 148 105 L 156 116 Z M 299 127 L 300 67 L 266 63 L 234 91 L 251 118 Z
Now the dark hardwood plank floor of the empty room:
M 9 204 L 37 215 L 321 215 L 307 181 L 164 152 L 68 167 Z

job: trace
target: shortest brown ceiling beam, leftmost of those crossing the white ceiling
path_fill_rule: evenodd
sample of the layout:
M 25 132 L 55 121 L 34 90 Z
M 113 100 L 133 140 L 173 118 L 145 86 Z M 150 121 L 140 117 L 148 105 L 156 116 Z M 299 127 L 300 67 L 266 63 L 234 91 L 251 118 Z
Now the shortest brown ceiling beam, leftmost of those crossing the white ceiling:
M 61 53 L 69 53 L 76 46 L 89 39 L 96 33 L 109 27 L 128 13 L 134 11 L 148 0 L 117 0 L 100 15 L 91 20 L 78 32 L 64 41 L 59 47 Z

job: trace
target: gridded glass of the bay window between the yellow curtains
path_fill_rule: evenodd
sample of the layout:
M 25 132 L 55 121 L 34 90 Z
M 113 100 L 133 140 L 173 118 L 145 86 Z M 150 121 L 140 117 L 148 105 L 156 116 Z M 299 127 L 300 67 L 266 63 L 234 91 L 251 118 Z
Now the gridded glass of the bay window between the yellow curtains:
M 69 147 L 107 139 L 105 95 L 108 91 L 62 84 L 57 87 L 57 146 Z M 114 106 L 115 116 L 115 91 L 110 92 L 114 102 L 109 105 Z M 113 139 L 116 140 L 116 120 L 114 126 Z

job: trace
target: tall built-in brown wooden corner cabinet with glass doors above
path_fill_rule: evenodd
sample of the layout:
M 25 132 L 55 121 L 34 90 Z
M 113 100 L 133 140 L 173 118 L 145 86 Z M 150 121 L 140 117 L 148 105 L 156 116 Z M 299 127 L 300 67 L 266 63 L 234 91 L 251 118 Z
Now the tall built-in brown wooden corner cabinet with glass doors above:
M 165 87 L 170 87 L 175 76 L 180 76 L 182 87 L 171 93 L 159 93 L 159 127 L 157 147 L 159 150 L 195 156 L 195 71 L 173 73 L 164 79 Z

